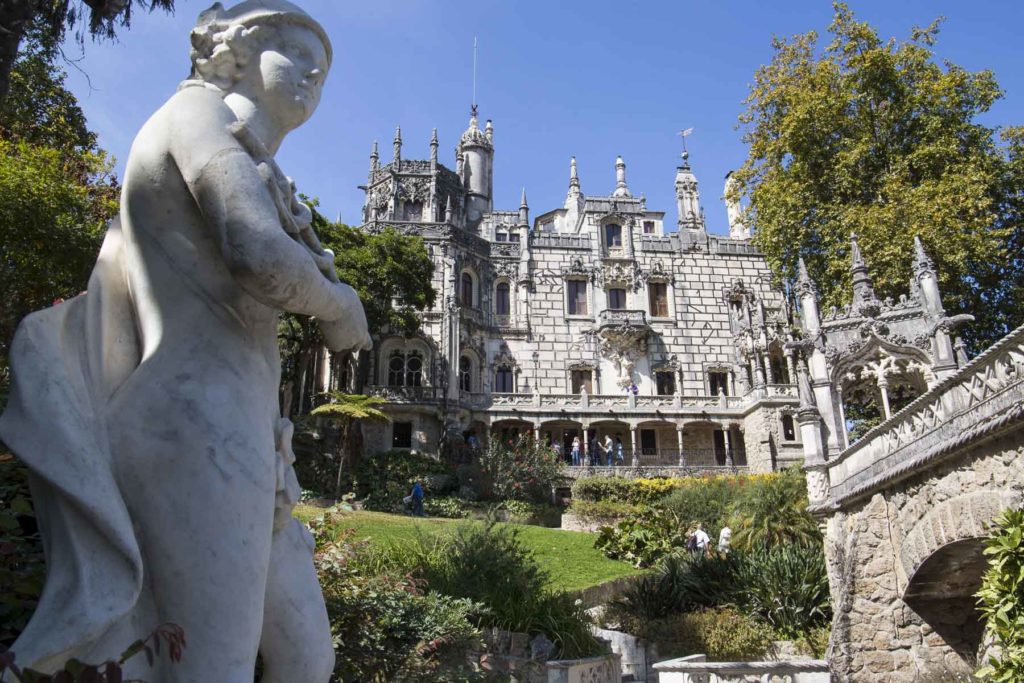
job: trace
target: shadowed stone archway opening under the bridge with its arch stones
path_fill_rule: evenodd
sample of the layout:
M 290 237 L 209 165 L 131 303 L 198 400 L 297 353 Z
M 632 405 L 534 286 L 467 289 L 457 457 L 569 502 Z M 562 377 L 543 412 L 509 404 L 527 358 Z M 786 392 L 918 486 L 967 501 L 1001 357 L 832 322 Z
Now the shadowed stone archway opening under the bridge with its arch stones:
M 1012 490 L 977 490 L 944 501 L 901 544 L 903 602 L 967 661 L 977 656 L 984 632 L 974 596 L 987 566 L 985 537 L 1002 510 L 1020 503 L 1021 495 Z

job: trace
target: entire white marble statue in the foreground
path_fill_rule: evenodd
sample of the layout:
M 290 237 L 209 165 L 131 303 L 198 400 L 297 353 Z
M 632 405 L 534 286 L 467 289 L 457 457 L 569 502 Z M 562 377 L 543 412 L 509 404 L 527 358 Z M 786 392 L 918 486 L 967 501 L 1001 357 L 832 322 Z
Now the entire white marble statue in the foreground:
M 284 0 L 204 12 L 193 74 L 145 123 L 88 293 L 34 313 L 11 350 L 0 437 L 32 470 L 47 558 L 13 646 L 52 671 L 117 658 L 158 625 L 183 658 L 151 683 L 326 682 L 331 633 L 281 418 L 276 325 L 314 315 L 369 348 L 354 291 L 273 161 L 319 100 L 331 45 Z

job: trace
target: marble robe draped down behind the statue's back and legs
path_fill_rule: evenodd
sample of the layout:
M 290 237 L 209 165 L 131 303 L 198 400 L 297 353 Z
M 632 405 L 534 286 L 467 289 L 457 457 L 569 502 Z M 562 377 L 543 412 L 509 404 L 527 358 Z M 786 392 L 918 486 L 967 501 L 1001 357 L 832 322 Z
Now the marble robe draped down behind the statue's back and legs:
M 47 565 L 39 606 L 12 648 L 23 666 L 84 655 L 146 603 L 139 601 L 142 560 L 115 480 L 104 415 L 139 361 L 123 253 L 115 220 L 88 292 L 26 317 L 11 346 L 0 438 L 32 469 Z

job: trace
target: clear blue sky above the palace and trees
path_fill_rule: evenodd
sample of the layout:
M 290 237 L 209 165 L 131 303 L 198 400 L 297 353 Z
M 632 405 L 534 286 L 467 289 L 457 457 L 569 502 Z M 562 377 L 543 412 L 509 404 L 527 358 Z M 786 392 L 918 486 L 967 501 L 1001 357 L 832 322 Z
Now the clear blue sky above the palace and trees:
M 466 128 L 472 45 L 479 41 L 477 101 L 495 122 L 496 208 L 515 209 L 525 186 L 532 215 L 561 206 L 575 155 L 584 193 L 614 187 L 622 155 L 634 195 L 675 214 L 673 178 L 681 128 L 709 219 L 725 230 L 725 174 L 745 147 L 736 117 L 773 35 L 823 33 L 831 5 L 815 2 L 519 2 L 482 0 L 296 0 L 334 44 L 334 66 L 314 117 L 285 141 L 278 161 L 324 213 L 358 222 L 368 157 L 380 141 L 391 158 L 401 124 L 407 159 L 426 158 L 438 129 L 441 162 Z M 208 2 L 136 13 L 117 43 L 87 43 L 69 68 L 100 144 L 123 169 L 131 140 L 188 72 L 188 31 Z M 227 3 L 230 4 L 230 3 Z M 946 16 L 936 53 L 968 69 L 992 69 L 1006 91 L 990 125 L 1024 124 L 1024 3 L 992 0 L 854 1 L 883 36 Z

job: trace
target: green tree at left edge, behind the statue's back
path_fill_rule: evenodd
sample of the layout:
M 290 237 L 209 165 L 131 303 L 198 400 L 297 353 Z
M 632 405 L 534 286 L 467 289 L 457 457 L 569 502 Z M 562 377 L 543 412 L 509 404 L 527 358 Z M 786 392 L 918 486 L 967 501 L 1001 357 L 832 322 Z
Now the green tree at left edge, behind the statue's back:
M 117 213 L 111 163 L 65 77 L 28 51 L 0 108 L 0 376 L 18 322 L 85 289 Z

